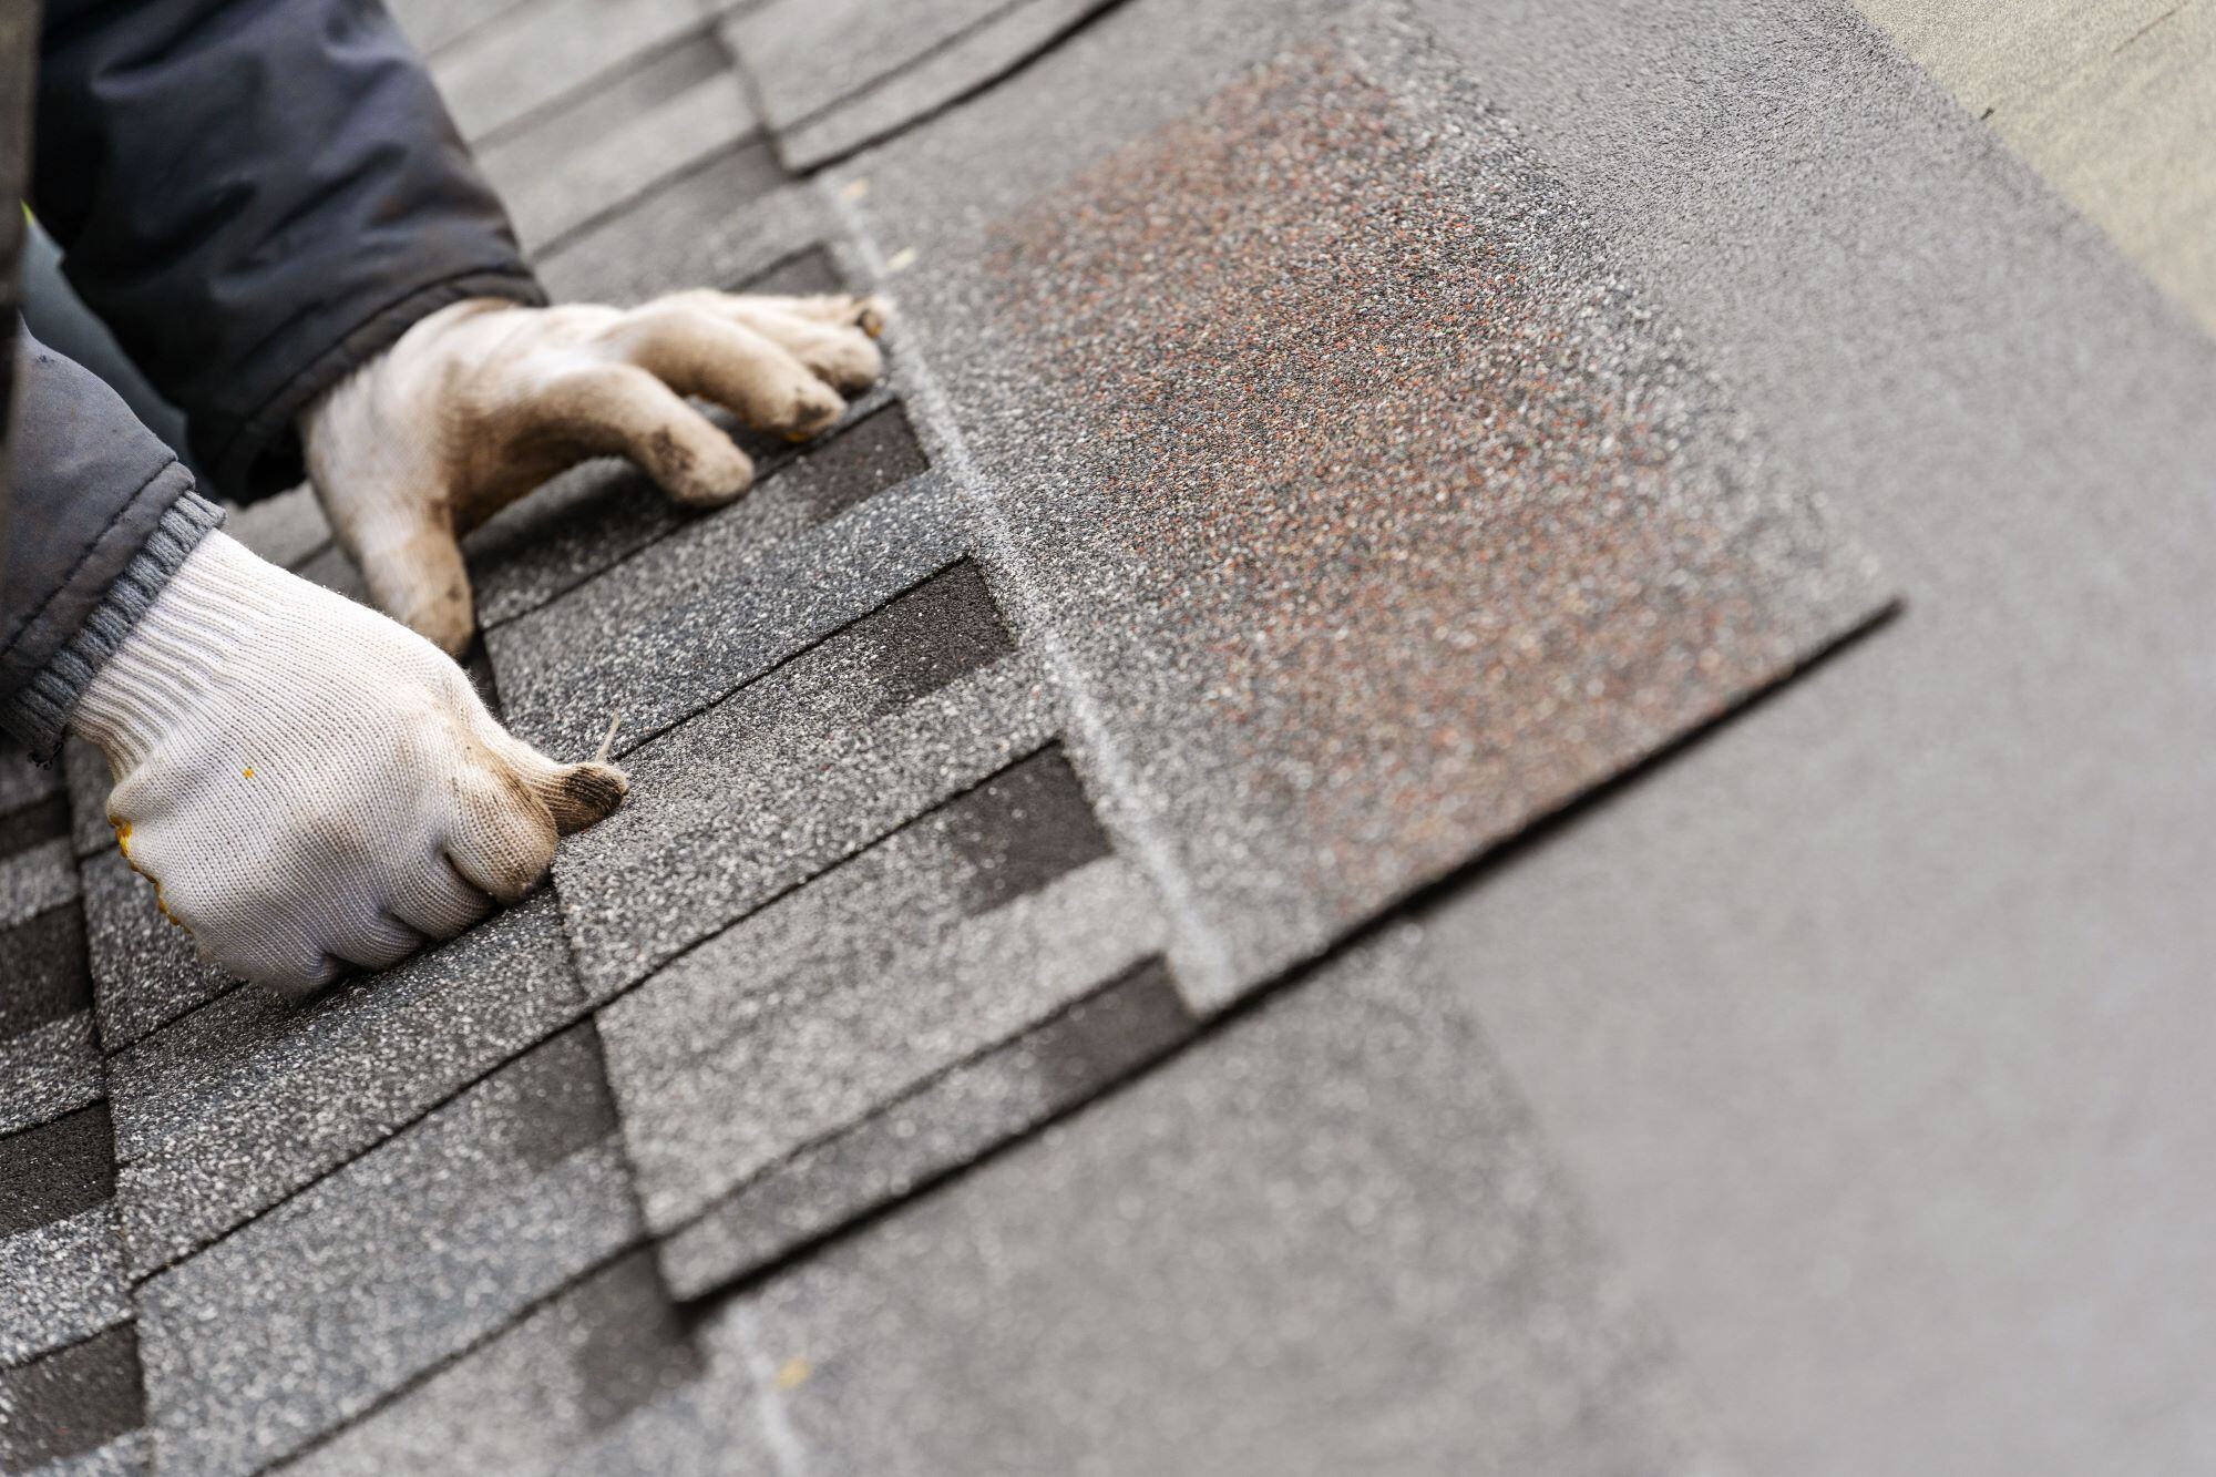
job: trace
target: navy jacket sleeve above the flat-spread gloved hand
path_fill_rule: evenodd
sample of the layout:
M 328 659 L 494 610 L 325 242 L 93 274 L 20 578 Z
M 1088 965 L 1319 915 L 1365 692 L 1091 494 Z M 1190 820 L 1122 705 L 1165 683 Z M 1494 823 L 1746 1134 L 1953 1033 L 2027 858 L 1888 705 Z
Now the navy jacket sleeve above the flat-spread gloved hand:
M 543 302 L 377 0 L 49 0 L 31 206 L 226 497 L 293 419 L 461 297 Z

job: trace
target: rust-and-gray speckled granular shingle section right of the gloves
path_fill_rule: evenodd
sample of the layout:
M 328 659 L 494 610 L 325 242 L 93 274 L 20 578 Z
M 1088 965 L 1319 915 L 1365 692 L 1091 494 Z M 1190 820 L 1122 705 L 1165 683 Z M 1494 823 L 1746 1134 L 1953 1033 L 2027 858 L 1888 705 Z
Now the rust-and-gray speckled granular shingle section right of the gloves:
M 1884 605 L 1507 124 L 1361 44 L 1004 220 L 935 315 L 1203 1002 Z

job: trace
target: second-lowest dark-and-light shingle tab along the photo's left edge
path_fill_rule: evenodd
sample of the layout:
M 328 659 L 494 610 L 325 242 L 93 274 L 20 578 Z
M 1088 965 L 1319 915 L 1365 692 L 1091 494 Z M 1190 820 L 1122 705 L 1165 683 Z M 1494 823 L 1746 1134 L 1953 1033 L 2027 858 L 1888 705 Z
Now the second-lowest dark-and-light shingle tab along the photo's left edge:
M 126 1317 L 104 1102 L 0 1138 L 0 1364 Z

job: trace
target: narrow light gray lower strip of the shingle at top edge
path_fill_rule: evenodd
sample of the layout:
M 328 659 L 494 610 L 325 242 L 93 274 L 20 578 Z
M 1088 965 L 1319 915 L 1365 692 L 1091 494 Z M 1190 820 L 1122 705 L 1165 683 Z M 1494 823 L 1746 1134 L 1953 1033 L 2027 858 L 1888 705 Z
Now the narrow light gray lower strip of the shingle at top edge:
M 811 171 L 889 137 L 1055 44 L 1112 0 L 1019 0 L 900 71 L 778 131 L 787 169 Z

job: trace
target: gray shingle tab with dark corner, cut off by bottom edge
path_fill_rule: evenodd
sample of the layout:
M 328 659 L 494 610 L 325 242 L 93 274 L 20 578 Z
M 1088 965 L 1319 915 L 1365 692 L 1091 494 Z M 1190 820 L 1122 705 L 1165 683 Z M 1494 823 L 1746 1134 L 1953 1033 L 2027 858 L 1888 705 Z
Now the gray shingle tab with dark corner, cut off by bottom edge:
M 618 1257 L 288 1468 L 771 1473 L 751 1377 L 702 1368 L 649 1253 Z

